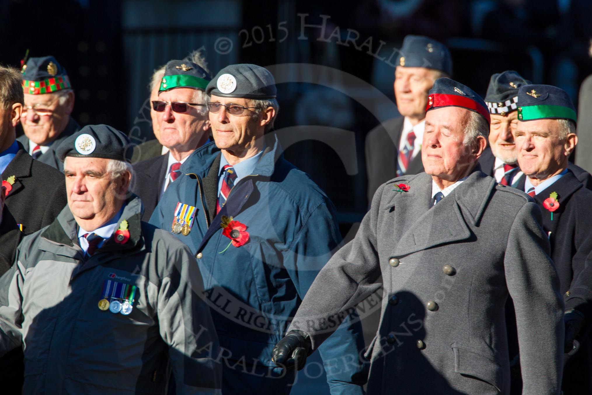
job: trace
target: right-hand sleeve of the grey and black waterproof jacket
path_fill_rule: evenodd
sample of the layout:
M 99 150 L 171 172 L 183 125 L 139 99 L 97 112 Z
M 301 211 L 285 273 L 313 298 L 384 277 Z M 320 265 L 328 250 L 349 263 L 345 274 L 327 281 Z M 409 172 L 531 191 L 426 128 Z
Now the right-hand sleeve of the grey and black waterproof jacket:
M 177 394 L 221 394 L 222 370 L 216 362 L 218 337 L 203 296 L 201 274 L 186 246 L 163 278 L 157 300 L 160 336 L 169 345 Z

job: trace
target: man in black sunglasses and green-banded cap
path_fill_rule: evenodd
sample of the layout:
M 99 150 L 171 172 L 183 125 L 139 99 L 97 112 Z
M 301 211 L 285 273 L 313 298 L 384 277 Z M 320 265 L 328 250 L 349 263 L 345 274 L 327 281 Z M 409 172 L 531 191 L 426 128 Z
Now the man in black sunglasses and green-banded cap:
M 151 113 L 158 123 L 159 140 L 168 153 L 134 165 L 133 192 L 144 204 L 142 220 L 148 221 L 160 197 L 181 175 L 181 165 L 198 147 L 207 142 L 210 121 L 207 115 L 205 87 L 210 74 L 197 63 L 171 60 L 153 100 Z

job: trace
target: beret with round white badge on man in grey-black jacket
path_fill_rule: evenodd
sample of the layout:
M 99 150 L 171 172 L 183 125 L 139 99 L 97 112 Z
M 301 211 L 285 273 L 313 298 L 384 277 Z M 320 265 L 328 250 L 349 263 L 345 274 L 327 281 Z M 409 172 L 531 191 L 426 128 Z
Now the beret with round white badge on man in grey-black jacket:
M 105 158 L 131 162 L 133 146 L 126 134 L 107 125 L 87 125 L 57 147 L 57 157 Z

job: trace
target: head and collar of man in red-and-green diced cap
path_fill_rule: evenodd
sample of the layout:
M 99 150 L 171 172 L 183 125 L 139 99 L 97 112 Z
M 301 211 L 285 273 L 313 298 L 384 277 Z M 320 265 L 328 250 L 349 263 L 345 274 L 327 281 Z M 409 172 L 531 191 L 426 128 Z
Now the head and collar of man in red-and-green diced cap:
M 18 141 L 33 159 L 63 171 L 56 149 L 80 129 L 70 117 L 74 108 L 74 91 L 66 69 L 53 56 L 44 56 L 31 57 L 22 66 L 21 72 L 25 94 L 21 125 L 25 134 Z

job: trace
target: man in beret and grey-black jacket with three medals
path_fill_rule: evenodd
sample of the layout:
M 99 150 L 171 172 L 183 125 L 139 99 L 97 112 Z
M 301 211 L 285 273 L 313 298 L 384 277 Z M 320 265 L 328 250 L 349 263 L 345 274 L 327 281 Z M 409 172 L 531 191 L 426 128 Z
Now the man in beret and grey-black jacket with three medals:
M 0 279 L 0 355 L 24 346 L 23 394 L 164 393 L 171 367 L 178 394 L 219 393 L 200 272 L 126 198 L 129 144 L 105 125 L 64 140 L 68 205 Z

